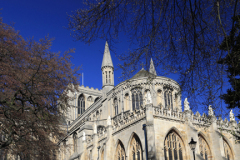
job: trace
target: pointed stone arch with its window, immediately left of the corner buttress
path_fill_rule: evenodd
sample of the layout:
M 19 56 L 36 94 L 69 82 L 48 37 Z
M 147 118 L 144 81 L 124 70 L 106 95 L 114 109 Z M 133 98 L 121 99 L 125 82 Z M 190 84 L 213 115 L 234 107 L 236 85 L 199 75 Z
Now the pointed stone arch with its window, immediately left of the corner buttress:
M 128 160 L 143 160 L 143 149 L 142 142 L 139 136 L 133 132 L 128 141 Z M 135 157 L 135 159 L 133 159 Z

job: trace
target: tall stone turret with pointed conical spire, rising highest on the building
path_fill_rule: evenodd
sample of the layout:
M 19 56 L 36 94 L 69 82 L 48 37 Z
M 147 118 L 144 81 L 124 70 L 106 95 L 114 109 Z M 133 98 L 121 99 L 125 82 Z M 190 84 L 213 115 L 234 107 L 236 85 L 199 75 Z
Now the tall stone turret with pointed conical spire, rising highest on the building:
M 107 42 L 105 44 L 101 69 L 102 69 L 103 93 L 106 94 L 114 87 L 114 67 Z

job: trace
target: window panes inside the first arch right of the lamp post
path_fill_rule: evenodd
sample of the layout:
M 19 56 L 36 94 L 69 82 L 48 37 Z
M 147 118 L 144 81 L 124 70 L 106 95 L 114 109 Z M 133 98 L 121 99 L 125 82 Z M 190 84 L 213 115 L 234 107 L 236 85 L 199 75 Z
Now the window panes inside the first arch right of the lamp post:
M 198 142 L 200 155 L 204 160 L 208 160 L 211 155 L 211 152 L 206 140 L 201 135 L 198 135 Z

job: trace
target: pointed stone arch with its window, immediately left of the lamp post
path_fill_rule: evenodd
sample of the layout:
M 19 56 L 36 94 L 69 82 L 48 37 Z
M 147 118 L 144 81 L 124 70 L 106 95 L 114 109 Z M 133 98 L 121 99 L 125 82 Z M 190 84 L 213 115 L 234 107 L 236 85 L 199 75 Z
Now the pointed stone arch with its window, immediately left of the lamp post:
M 187 159 L 185 143 L 182 138 L 182 134 L 176 127 L 172 127 L 168 130 L 164 138 L 164 159 Z

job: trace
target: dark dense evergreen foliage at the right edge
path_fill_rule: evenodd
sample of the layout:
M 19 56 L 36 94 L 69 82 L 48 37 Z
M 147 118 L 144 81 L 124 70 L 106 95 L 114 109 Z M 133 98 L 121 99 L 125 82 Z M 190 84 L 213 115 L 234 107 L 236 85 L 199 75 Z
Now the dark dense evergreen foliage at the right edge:
M 227 66 L 231 88 L 221 95 L 221 98 L 228 108 L 240 108 L 240 15 L 233 17 L 232 20 L 234 25 L 230 35 L 225 37 L 220 46 L 227 55 L 219 61 L 220 64 Z

